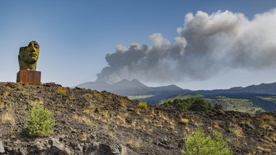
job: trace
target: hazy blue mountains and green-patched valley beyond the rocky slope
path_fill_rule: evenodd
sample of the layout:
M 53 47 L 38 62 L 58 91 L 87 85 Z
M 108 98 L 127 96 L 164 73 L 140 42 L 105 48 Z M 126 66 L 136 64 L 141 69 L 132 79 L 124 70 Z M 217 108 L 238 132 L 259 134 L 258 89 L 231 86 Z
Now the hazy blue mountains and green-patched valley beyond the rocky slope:
M 77 85 L 91 90 L 112 92 L 129 99 L 137 99 L 152 105 L 172 101 L 173 99 L 186 99 L 188 97 L 202 98 L 206 102 L 215 102 L 224 106 L 225 110 L 241 112 L 276 111 L 276 83 L 262 83 L 248 87 L 232 87 L 227 90 L 184 90 L 177 85 L 161 87 L 148 87 L 133 79 L 126 79 L 109 84 L 103 81 L 88 82 Z

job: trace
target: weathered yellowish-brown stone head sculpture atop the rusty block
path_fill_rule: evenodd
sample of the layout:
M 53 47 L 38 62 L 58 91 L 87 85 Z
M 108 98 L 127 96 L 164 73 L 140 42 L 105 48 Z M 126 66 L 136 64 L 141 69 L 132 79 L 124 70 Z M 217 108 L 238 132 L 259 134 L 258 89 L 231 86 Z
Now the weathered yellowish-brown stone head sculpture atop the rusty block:
M 37 70 L 37 59 L 39 59 L 39 44 L 31 41 L 28 46 L 19 50 L 19 70 Z

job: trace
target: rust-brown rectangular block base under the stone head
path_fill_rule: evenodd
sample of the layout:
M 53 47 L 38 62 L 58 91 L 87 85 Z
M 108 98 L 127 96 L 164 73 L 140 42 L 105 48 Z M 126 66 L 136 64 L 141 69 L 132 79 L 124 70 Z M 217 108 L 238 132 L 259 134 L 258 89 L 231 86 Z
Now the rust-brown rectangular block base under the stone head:
M 29 83 L 40 85 L 41 72 L 32 70 L 19 70 L 17 72 L 17 83 Z

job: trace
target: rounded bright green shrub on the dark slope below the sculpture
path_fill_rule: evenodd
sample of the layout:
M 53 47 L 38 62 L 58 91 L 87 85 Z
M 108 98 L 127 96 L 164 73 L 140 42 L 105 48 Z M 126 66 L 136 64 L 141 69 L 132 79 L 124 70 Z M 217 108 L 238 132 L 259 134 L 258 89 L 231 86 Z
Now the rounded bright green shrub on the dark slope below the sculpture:
M 47 136 L 52 134 L 52 128 L 55 125 L 55 119 L 52 119 L 52 112 L 49 112 L 42 105 L 34 105 L 26 119 L 26 132 L 30 136 Z

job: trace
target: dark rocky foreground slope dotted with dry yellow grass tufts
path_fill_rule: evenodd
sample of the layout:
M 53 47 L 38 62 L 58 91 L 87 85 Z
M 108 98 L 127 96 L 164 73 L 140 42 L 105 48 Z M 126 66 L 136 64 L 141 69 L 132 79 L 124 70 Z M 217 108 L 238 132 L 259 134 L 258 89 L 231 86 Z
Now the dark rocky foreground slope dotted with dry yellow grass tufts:
M 50 136 L 26 134 L 28 110 L 37 103 L 54 113 Z M 211 137 L 221 132 L 234 154 L 275 154 L 275 114 L 142 108 L 104 91 L 0 83 L 0 154 L 181 154 L 197 127 Z

